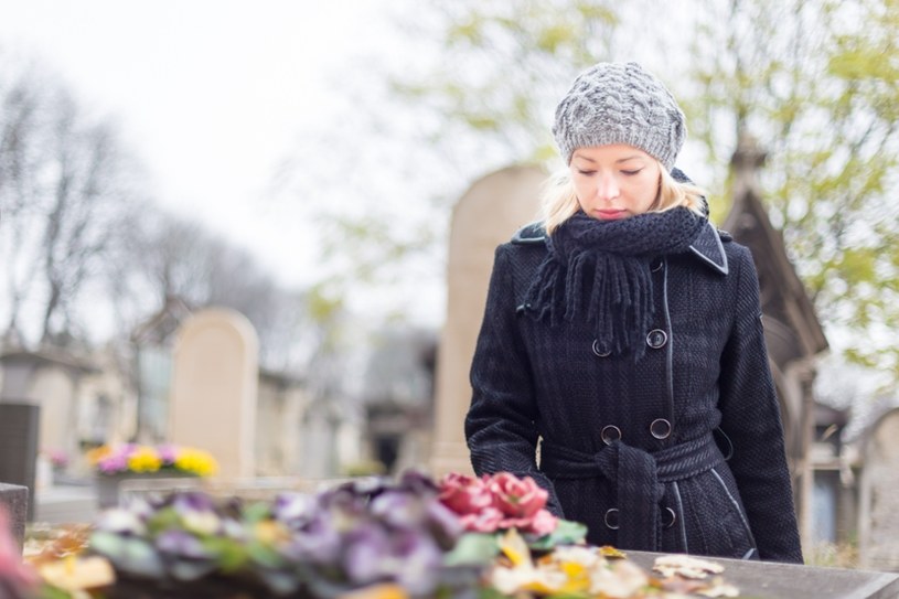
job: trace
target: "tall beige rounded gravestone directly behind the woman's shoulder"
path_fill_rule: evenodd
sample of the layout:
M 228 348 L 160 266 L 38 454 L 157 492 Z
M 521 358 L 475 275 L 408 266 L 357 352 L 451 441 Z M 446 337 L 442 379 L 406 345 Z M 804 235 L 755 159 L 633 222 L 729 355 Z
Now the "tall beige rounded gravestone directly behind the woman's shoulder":
M 437 362 L 435 441 L 431 470 L 470 472 L 463 430 L 471 404 L 469 370 L 484 314 L 486 289 L 497 245 L 539 212 L 546 173 L 537 167 L 510 167 L 480 179 L 456 204 L 447 263 L 447 320 Z

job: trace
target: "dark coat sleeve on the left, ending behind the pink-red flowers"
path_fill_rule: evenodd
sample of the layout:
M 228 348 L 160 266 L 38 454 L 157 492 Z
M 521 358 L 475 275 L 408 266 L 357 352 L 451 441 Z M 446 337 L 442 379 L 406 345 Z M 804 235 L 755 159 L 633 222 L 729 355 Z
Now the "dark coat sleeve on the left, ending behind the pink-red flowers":
M 471 365 L 465 438 L 478 475 L 531 477 L 549 493 L 547 509 L 564 517 L 552 481 L 537 469 L 537 417 L 531 364 L 516 315 L 513 249 L 496 248 L 484 319 Z

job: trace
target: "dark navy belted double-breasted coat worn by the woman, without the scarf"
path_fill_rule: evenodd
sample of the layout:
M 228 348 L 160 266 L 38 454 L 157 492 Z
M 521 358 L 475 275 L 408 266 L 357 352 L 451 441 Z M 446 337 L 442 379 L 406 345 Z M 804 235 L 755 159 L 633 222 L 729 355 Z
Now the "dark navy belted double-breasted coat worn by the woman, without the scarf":
M 801 563 L 749 250 L 708 225 L 650 259 L 636 362 L 603 355 L 586 323 L 534 317 L 546 252 L 537 226 L 496 249 L 465 419 L 475 472 L 533 477 L 595 545 Z

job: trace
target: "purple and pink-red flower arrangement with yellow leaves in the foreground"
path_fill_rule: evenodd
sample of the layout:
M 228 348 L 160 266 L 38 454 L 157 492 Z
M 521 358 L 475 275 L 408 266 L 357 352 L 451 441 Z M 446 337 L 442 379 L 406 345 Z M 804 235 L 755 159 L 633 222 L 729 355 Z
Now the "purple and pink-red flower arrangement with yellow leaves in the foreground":
M 545 511 L 545 492 L 507 473 L 407 472 L 253 503 L 181 492 L 107 510 L 85 555 L 35 567 L 42 599 L 736 596 L 719 578 L 699 580 L 720 566 L 677 556 L 655 575 Z

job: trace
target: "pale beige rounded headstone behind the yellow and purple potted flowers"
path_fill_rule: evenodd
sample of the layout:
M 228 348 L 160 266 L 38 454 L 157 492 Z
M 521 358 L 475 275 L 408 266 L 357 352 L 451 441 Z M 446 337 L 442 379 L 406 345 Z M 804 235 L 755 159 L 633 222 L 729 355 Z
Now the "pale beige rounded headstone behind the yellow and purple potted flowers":
M 225 478 L 255 474 L 258 353 L 249 321 L 223 308 L 191 315 L 175 340 L 170 439 L 210 451 Z

